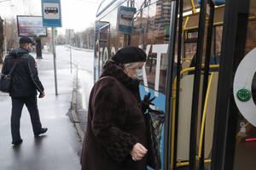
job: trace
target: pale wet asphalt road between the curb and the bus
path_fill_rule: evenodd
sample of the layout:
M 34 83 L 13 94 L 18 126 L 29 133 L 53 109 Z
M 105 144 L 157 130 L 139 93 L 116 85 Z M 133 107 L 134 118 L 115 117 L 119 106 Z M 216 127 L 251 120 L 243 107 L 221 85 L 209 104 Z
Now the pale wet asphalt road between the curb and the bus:
M 72 63 L 73 71 L 77 71 L 78 84 L 76 113 L 83 131 L 86 127 L 90 90 L 93 86 L 93 54 L 92 50 L 71 48 L 70 52 L 68 46 L 56 46 L 57 61 L 67 60 L 69 63 Z M 69 69 L 70 68 L 71 66 Z M 71 114 L 68 115 L 71 116 Z

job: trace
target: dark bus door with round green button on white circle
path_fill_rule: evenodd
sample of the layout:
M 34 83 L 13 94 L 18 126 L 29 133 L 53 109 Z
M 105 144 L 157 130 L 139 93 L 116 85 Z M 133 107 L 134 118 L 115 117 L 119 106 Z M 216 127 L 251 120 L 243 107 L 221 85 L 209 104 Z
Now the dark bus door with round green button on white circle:
M 256 1 L 225 5 L 211 169 L 255 169 Z

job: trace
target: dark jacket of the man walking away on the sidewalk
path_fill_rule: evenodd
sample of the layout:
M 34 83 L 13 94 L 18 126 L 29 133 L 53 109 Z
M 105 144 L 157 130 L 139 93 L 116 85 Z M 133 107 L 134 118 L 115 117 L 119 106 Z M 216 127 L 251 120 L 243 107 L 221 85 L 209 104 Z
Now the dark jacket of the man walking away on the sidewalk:
M 12 73 L 12 86 L 9 95 L 26 97 L 43 92 L 44 87 L 38 77 L 37 63 L 25 48 L 15 48 L 10 51 L 4 59 L 2 73 L 8 74 L 17 59 L 19 62 Z

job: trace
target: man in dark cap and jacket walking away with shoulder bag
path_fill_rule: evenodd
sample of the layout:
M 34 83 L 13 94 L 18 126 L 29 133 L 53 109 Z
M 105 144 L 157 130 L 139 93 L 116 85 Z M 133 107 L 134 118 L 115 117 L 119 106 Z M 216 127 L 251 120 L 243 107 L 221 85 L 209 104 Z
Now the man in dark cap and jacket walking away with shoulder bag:
M 20 48 L 12 49 L 5 57 L 2 68 L 2 73 L 8 74 L 18 59 L 18 65 L 12 73 L 12 86 L 9 92 L 12 99 L 12 144 L 15 145 L 23 141 L 20 138 L 20 116 L 24 104 L 31 117 L 34 135 L 37 137 L 47 131 L 47 128 L 42 128 L 40 122 L 37 100 L 38 92 L 39 98 L 44 98 L 44 87 L 38 77 L 37 63 L 32 55 L 28 54 L 32 52 L 37 43 L 32 42 L 29 37 L 21 37 L 19 43 Z

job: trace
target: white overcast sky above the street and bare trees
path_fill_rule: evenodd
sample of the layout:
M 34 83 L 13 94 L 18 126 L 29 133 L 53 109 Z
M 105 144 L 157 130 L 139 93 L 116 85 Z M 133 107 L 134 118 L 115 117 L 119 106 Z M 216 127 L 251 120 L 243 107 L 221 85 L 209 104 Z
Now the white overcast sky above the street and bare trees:
M 16 15 L 37 15 L 42 16 L 41 0 L 0 0 L 0 15 L 16 18 Z M 58 28 L 59 33 L 65 34 L 66 29 L 84 31 L 87 27 L 93 26 L 96 19 L 96 10 L 102 0 L 61 0 L 62 27 Z M 25 9 L 25 10 L 24 10 Z

